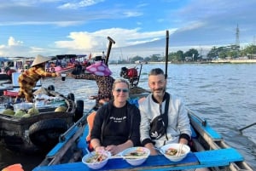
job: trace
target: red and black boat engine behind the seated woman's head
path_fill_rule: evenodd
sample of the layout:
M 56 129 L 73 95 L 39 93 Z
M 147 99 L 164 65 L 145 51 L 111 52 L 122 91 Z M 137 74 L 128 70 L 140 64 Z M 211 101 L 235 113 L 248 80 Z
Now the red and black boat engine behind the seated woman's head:
M 122 67 L 120 71 L 120 77 L 124 77 L 130 83 L 131 88 L 137 86 L 138 84 L 138 73 L 137 68 L 126 68 Z

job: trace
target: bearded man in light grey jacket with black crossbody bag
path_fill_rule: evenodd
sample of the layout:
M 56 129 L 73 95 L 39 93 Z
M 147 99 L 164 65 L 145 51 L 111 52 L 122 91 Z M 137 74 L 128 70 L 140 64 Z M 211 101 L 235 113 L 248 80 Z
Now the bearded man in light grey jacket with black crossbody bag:
M 141 143 L 151 155 L 158 154 L 155 147 L 169 143 L 187 145 L 191 137 L 188 112 L 180 99 L 166 92 L 166 83 L 164 71 L 160 68 L 151 70 L 148 74 L 151 94 L 139 104 Z M 160 116 L 163 121 L 158 127 L 156 123 Z

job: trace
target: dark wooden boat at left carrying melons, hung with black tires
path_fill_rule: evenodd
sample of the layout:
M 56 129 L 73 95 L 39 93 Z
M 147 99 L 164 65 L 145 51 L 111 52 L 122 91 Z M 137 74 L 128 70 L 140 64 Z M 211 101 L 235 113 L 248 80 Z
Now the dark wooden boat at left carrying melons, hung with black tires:
M 0 141 L 12 151 L 25 153 L 49 151 L 58 143 L 59 136 L 75 123 L 84 112 L 84 101 L 74 102 L 73 94 L 65 97 L 54 91 L 53 86 L 44 88 L 51 101 L 48 105 L 36 106 L 38 114 L 26 117 L 17 117 L 14 114 L 0 112 Z M 66 108 L 55 111 L 59 106 Z M 6 108 L 14 111 L 26 111 L 32 108 L 32 103 L 6 104 Z

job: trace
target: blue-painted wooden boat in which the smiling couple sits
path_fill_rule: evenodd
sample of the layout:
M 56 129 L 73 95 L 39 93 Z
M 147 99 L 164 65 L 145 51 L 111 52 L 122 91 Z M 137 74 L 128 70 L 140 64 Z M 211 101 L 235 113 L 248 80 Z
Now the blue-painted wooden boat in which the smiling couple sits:
M 189 110 L 188 110 L 189 111 Z M 91 111 L 61 134 L 60 142 L 49 151 L 38 167 L 33 171 L 57 170 L 91 170 L 81 159 L 87 154 L 85 142 L 88 134 L 86 117 Z M 253 171 L 235 148 L 224 142 L 207 121 L 189 111 L 193 139 L 191 152 L 180 162 L 171 162 L 163 155 L 149 156 L 146 162 L 139 166 L 131 166 L 125 160 L 113 158 L 108 160 L 102 170 L 184 170 L 190 168 L 205 168 L 210 171 Z

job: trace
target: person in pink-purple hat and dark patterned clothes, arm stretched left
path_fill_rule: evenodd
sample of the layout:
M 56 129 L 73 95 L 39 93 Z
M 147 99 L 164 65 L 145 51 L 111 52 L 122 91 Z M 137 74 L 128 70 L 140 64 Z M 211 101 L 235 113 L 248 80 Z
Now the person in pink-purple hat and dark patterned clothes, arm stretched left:
M 71 73 L 72 77 L 76 79 L 96 81 L 99 88 L 98 94 L 92 97 L 92 99 L 96 99 L 96 108 L 112 99 L 114 79 L 111 77 L 111 74 L 112 71 L 102 62 L 102 59 L 97 59 L 94 64 L 86 67 L 84 74 L 76 75 L 74 72 Z

